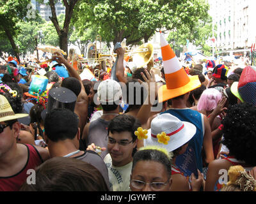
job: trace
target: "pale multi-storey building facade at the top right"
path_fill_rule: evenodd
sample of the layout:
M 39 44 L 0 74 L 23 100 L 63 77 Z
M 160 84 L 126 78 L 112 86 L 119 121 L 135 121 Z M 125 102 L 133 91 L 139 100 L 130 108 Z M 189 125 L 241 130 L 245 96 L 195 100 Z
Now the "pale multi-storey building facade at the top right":
M 255 0 L 209 0 L 216 47 L 221 55 L 244 55 L 256 43 Z

